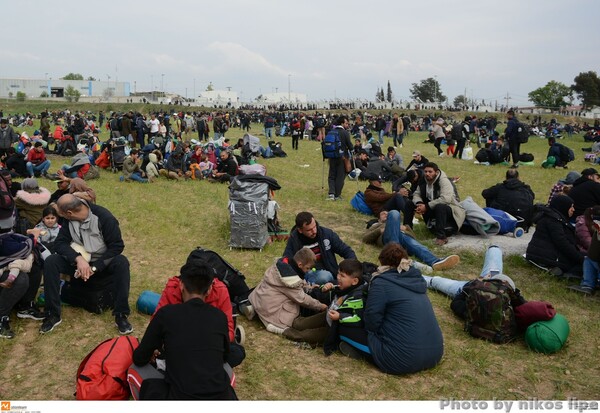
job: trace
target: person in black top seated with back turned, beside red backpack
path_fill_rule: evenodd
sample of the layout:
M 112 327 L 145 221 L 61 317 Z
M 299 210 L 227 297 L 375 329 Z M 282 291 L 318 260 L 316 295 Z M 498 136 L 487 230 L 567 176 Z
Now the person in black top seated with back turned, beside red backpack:
M 200 263 L 181 268 L 182 304 L 156 312 L 132 369 L 142 378 L 141 400 L 237 400 L 226 370 L 230 337 L 227 316 L 206 303 L 213 272 Z M 150 363 L 162 355 L 166 372 Z

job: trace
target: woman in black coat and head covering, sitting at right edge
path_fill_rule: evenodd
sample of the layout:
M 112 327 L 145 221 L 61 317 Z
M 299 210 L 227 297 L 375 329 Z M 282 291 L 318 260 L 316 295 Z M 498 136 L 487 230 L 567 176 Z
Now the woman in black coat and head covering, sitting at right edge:
M 583 274 L 584 255 L 577 248 L 575 228 L 569 218 L 575 210 L 573 200 L 556 196 L 548 207 L 538 205 L 533 218 L 535 233 L 527 246 L 526 258 L 536 265 L 549 268 L 553 274 Z

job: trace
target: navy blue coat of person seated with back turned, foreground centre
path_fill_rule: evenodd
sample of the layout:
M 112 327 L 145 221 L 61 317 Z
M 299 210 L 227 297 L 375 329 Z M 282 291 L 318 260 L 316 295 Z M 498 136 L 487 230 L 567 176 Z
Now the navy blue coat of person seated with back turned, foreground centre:
M 425 280 L 415 268 L 374 276 L 364 321 L 371 355 L 386 373 L 414 373 L 434 367 L 442 358 L 442 331 Z

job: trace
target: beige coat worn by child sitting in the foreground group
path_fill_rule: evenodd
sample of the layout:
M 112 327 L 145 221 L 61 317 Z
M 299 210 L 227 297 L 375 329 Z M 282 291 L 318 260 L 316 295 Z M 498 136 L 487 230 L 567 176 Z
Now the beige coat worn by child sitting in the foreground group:
M 282 268 L 284 259 L 267 269 L 248 299 L 265 325 L 287 328 L 300 315 L 300 307 L 320 311 L 323 304 L 304 292 L 304 280 L 295 274 L 289 264 L 285 264 L 289 267 L 286 268 L 289 271 L 284 271 L 286 276 L 282 276 L 277 264 Z

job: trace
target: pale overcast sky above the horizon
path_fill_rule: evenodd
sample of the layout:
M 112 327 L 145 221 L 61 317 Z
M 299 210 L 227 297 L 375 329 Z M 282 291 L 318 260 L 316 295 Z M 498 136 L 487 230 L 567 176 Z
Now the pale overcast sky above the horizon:
M 397 99 L 437 77 L 450 101 L 527 105 L 550 80 L 600 70 L 598 0 L 5 1 L 0 76 L 69 72 L 198 95 Z M 276 89 L 277 88 L 277 89 Z

